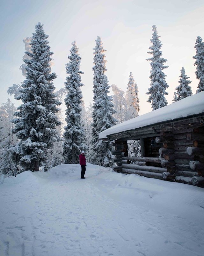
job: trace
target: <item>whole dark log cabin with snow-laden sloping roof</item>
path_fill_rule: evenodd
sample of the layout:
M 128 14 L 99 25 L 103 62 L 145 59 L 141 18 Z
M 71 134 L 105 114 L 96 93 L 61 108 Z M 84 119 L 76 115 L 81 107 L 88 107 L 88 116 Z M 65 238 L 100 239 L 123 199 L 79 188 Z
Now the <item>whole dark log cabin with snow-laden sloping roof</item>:
M 117 124 L 99 134 L 114 140 L 113 170 L 204 186 L 204 92 Z M 140 140 L 141 157 L 128 156 Z

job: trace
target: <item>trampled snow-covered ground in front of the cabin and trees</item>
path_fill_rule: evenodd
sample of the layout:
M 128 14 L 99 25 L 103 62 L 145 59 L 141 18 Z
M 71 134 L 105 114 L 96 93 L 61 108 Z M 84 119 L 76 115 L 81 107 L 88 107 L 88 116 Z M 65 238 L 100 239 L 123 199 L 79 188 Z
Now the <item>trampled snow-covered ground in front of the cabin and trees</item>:
M 1 176 L 0 255 L 204 255 L 203 188 L 91 164 L 85 176 L 79 164 Z

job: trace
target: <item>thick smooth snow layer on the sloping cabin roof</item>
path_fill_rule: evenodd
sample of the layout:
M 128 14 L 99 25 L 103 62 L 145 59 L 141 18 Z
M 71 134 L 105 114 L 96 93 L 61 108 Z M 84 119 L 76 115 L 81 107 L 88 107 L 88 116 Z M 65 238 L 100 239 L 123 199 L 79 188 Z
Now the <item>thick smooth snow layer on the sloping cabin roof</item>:
M 114 125 L 113 127 L 100 132 L 98 138 L 105 139 L 110 134 L 129 131 L 147 125 L 172 121 L 174 119 L 201 113 L 204 113 L 204 92 L 199 92 L 163 108 L 156 109 L 142 116 Z

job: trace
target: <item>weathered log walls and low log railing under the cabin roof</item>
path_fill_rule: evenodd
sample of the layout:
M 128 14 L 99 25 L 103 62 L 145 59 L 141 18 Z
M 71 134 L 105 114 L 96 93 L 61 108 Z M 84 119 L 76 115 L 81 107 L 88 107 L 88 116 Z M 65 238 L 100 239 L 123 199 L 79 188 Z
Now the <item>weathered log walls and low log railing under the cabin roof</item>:
M 128 156 L 127 140 L 115 140 L 113 170 L 127 174 L 204 186 L 204 125 L 172 131 L 160 131 L 160 136 L 149 137 L 143 142 L 154 139 L 158 154 L 154 156 Z M 148 146 L 145 145 L 144 148 Z

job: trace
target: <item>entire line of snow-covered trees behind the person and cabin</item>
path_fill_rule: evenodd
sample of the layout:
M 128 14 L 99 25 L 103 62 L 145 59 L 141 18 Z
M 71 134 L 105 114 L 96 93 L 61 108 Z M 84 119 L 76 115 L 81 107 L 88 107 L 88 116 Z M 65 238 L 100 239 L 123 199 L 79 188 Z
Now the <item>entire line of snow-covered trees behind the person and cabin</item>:
M 156 26 L 149 47 L 150 87 L 147 94 L 152 110 L 168 104 L 165 95 L 169 85 L 164 69 L 167 61 L 162 57 L 161 40 Z M 38 23 L 32 38 L 25 38 L 24 64 L 20 66 L 25 80 L 13 84 L 8 93 L 21 101 L 16 108 L 8 98 L 0 108 L 0 172 L 17 175 L 20 172 L 47 171 L 59 164 L 77 164 L 81 150 L 86 152 L 88 162 L 105 167 L 113 165 L 111 142 L 98 140 L 98 134 L 115 124 L 139 116 L 140 102 L 138 86 L 132 72 L 129 74 L 127 91 L 108 83 L 106 76 L 106 50 L 97 36 L 93 49 L 93 102 L 85 107 L 81 87 L 83 71 L 80 70 L 81 57 L 76 42 L 72 43 L 65 86 L 55 92 L 56 74 L 51 72 L 52 55 L 43 25 Z M 195 43 L 196 78 L 199 80 L 196 93 L 204 91 L 204 42 L 200 36 Z M 173 102 L 192 95 L 191 81 L 184 67 L 180 70 L 178 86 Z M 112 88 L 113 96 L 109 95 Z M 62 110 L 64 100 L 66 118 L 62 132 Z M 131 156 L 140 156 L 138 140 L 128 142 Z

